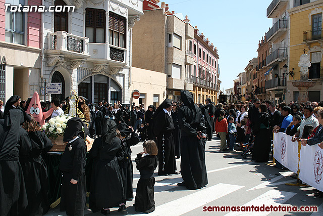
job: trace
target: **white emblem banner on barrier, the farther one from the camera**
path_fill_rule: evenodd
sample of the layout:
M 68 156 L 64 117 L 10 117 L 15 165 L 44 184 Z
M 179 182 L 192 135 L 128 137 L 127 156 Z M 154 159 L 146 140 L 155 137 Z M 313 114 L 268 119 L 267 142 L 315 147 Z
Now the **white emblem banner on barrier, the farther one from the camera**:
M 298 170 L 298 142 L 292 142 L 292 137 L 285 133 L 275 133 L 274 157 L 283 166 L 296 173 Z

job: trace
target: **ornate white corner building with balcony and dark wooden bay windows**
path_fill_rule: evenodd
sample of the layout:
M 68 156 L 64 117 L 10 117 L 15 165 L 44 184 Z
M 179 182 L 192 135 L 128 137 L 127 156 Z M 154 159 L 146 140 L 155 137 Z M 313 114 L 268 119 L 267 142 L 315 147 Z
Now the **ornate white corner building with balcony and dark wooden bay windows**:
M 74 90 L 93 103 L 129 103 L 132 27 L 143 15 L 142 1 L 44 0 L 46 8 L 75 6 L 42 14 L 41 84 L 62 82 L 62 94 L 52 97 L 64 100 Z

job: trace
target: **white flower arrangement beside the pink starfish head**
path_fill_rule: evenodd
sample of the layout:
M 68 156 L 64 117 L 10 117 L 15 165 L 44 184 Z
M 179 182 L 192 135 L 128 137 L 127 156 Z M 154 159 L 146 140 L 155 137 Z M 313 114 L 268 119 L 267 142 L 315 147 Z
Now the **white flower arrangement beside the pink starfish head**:
M 51 137 L 52 139 L 56 139 L 59 136 L 63 137 L 66 129 L 66 123 L 72 116 L 68 114 L 62 114 L 60 116 L 53 117 L 49 119 L 47 123 L 42 125 L 42 131 L 45 132 L 47 137 Z

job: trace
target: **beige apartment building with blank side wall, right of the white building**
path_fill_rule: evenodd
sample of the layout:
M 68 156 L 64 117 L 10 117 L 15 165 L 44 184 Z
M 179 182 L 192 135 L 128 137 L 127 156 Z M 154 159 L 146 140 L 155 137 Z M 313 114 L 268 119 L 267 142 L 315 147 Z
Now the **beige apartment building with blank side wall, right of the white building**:
M 132 32 L 132 66 L 165 73 L 167 76 L 166 97 L 179 101 L 180 91 L 193 91 L 193 83 L 186 81 L 189 66 L 194 57 L 189 51 L 189 40 L 194 39 L 194 28 L 188 19 L 182 20 L 181 14 L 161 8 L 144 10 L 140 21 L 136 22 Z M 132 71 L 133 77 L 136 70 Z M 159 80 L 157 77 L 152 79 Z M 147 85 L 145 91 L 153 92 Z M 153 92 L 155 94 L 155 92 Z

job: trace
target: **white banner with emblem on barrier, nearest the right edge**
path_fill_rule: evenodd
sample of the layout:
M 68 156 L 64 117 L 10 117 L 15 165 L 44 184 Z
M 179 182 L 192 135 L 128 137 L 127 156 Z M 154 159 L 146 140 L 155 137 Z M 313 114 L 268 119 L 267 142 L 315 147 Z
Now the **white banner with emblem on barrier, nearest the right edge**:
M 318 145 L 302 146 L 299 161 L 299 179 L 323 191 L 323 149 Z

